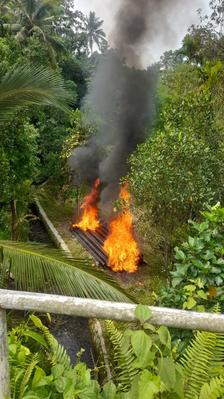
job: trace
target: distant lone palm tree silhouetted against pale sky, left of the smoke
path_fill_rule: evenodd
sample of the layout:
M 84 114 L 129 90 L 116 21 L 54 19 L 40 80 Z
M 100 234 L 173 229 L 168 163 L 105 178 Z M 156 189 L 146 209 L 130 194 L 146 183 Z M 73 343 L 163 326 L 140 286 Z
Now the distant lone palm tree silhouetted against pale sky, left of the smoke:
M 83 18 L 84 26 L 82 26 L 81 30 L 82 32 L 85 32 L 88 34 L 89 37 L 89 45 L 91 49 L 91 55 L 92 55 L 92 46 L 93 43 L 95 42 L 98 45 L 98 48 L 100 49 L 100 41 L 106 43 L 106 34 L 102 29 L 100 29 L 100 26 L 102 26 L 103 21 L 99 21 L 99 18 L 96 18 L 96 13 L 93 11 L 90 11 L 89 16 L 86 18 Z

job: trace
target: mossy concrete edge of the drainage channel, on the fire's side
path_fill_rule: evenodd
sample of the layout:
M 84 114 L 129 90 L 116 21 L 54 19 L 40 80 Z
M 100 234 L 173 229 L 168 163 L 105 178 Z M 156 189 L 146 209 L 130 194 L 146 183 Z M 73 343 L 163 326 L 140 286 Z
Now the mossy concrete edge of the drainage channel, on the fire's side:
M 66 252 L 66 255 L 72 255 L 71 252 L 69 251 L 69 248 L 65 244 L 65 241 L 62 239 L 58 231 L 55 229 L 51 221 L 48 219 L 45 211 L 41 207 L 39 201 L 36 201 L 37 205 L 37 211 L 40 215 L 40 218 L 43 219 L 45 224 L 47 225 L 48 229 L 51 231 L 51 234 L 55 237 L 56 242 L 60 245 L 60 247 Z M 96 356 L 102 355 L 102 360 L 105 363 L 105 368 L 106 368 L 106 378 L 102 376 L 102 384 L 104 385 L 108 381 L 112 381 L 112 374 L 108 362 L 108 358 L 106 356 L 106 345 L 104 342 L 104 338 L 102 336 L 102 328 L 101 324 L 98 320 L 96 319 L 88 319 L 88 324 L 90 327 L 90 332 L 92 334 L 92 343 L 94 347 L 94 351 L 96 353 Z

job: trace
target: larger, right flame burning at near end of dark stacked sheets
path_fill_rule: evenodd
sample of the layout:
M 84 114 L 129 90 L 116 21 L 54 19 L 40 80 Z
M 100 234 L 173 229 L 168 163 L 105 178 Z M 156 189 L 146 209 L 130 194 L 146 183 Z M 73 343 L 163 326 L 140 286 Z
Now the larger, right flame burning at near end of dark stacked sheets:
M 124 201 L 130 201 L 126 188 L 121 193 Z M 109 255 L 109 263 L 114 271 L 126 270 L 133 273 L 137 270 L 140 251 L 132 236 L 133 217 L 129 210 L 110 223 L 111 233 L 104 242 L 103 249 Z

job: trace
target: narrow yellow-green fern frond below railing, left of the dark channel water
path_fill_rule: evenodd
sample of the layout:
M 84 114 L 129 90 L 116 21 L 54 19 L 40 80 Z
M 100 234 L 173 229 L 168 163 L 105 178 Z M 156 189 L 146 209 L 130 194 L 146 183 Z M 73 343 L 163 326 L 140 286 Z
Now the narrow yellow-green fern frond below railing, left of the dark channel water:
M 45 340 L 47 344 L 51 348 L 51 353 L 47 353 L 47 358 L 54 366 L 56 364 L 62 364 L 64 366 L 65 371 L 71 370 L 71 360 L 70 357 L 66 354 L 66 350 L 64 347 L 58 344 L 57 340 L 53 337 L 53 335 L 49 332 L 49 329 L 41 323 L 41 320 L 37 316 L 30 316 L 31 320 L 44 334 Z

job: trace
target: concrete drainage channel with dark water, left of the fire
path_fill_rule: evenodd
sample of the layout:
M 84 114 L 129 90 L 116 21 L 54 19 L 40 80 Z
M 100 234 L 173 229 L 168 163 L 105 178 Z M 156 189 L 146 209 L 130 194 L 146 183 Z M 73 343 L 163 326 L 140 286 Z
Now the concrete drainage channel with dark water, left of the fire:
M 66 251 L 69 256 L 70 251 L 67 245 L 48 219 L 38 201 L 36 202 L 36 211 L 41 222 L 38 220 L 32 222 L 32 241 L 52 244 L 54 247 Z M 71 358 L 71 363 L 74 364 L 76 362 L 77 352 L 79 352 L 81 348 L 84 348 L 85 352 L 82 354 L 81 361 L 85 362 L 87 367 L 91 369 L 94 368 L 94 364 L 97 363 L 97 365 L 101 365 L 100 363 L 103 362 L 106 367 L 100 368 L 98 372 L 99 382 L 103 385 L 111 381 L 112 377 L 106 357 L 106 346 L 102 336 L 102 328 L 98 320 L 87 320 L 81 317 L 61 315 L 54 316 L 54 320 L 55 325 L 50 328 L 51 334 L 53 334 L 59 344 L 66 348 L 67 354 Z

